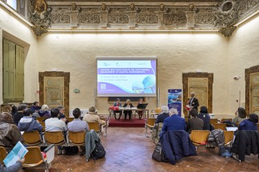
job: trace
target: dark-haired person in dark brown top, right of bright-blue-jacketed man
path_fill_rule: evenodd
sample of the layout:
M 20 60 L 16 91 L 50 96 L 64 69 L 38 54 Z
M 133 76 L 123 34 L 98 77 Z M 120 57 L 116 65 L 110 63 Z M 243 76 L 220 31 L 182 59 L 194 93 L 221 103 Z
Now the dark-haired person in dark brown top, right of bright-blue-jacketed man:
M 186 131 L 191 133 L 192 130 L 202 130 L 204 124 L 203 120 L 197 117 L 198 111 L 196 109 L 191 109 L 191 111 L 189 111 L 189 115 L 191 118 L 188 119 Z

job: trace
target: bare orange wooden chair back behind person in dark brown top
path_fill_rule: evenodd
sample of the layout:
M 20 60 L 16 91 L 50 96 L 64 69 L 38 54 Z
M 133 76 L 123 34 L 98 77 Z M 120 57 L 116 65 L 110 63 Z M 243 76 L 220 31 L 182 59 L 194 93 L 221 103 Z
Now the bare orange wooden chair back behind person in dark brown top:
M 197 145 L 207 142 L 209 133 L 209 130 L 193 130 L 190 135 L 191 142 Z

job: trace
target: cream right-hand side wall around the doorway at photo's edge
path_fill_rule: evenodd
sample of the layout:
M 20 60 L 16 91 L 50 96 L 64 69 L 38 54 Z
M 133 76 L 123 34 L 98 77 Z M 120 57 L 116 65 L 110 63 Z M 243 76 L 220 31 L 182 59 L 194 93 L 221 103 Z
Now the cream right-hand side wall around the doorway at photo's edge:
M 244 69 L 259 65 L 259 15 L 240 25 L 229 39 L 229 105 L 236 111 L 241 92 L 241 105 L 245 102 Z M 233 80 L 240 76 L 240 80 Z

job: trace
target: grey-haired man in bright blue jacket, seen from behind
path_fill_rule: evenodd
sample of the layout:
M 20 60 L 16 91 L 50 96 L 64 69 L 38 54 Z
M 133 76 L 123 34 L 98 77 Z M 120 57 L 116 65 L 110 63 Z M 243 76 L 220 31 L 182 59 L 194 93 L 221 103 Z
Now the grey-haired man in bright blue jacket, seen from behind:
M 178 116 L 177 109 L 169 110 L 169 118 L 164 119 L 164 125 L 162 127 L 162 132 L 169 130 L 184 130 L 185 131 L 185 120 L 184 118 Z M 160 136 L 161 137 L 161 136 Z

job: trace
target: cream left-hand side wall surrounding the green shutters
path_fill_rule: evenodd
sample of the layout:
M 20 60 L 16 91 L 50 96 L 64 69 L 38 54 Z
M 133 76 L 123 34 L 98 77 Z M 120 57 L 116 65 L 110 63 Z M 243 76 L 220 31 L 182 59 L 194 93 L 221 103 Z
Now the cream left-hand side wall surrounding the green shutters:
M 35 36 L 26 23 L 17 19 L 8 10 L 0 6 L 0 103 L 3 103 L 3 37 L 24 47 L 24 102 L 31 103 L 37 100 L 36 91 L 39 85 L 37 79 L 37 36 Z

